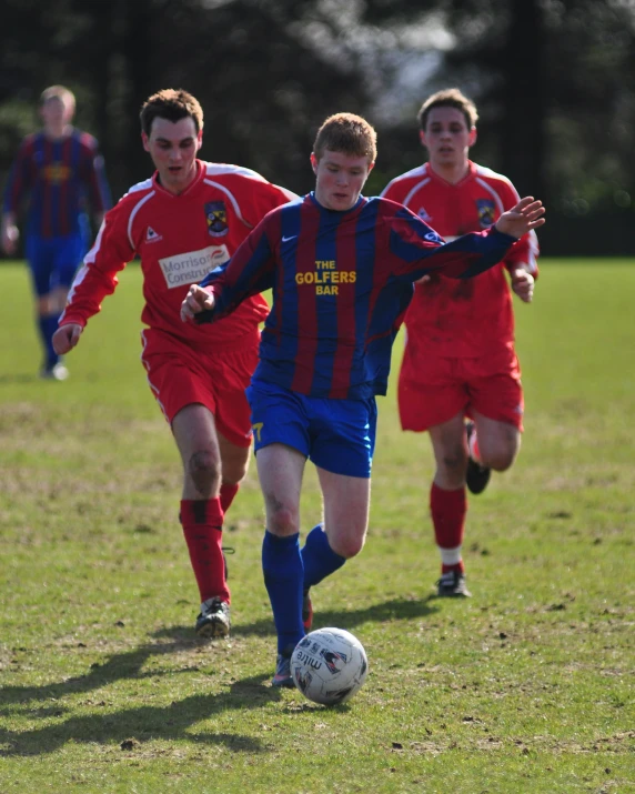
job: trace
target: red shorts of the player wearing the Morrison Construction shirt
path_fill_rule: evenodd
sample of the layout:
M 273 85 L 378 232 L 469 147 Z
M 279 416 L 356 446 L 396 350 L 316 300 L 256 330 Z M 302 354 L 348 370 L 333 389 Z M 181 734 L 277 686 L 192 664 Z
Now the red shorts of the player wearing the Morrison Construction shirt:
M 192 350 L 170 334 L 147 329 L 141 361 L 168 422 L 192 403 L 209 408 L 216 430 L 236 446 L 251 444 L 251 412 L 244 390 L 258 363 L 260 332 L 218 352 Z

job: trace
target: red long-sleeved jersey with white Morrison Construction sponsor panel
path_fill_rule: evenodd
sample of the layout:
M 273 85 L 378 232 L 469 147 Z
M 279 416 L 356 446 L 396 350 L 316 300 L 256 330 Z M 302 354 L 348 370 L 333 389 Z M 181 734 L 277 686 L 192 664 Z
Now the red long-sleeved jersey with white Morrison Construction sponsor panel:
M 149 328 L 194 348 L 232 344 L 253 333 L 268 314 L 262 295 L 248 299 L 231 316 L 212 325 L 182 322 L 181 303 L 190 284 L 225 262 L 275 207 L 296 198 L 255 171 L 196 161 L 196 178 L 181 194 L 152 179 L 135 184 L 110 210 L 69 293 L 60 325 L 85 325 L 117 287 L 117 273 L 141 259 Z

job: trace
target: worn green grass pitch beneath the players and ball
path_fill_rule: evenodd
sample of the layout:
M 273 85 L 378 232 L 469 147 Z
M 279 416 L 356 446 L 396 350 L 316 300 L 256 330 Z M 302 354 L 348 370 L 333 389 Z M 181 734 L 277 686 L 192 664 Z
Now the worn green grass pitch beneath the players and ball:
M 516 306 L 526 433 L 470 502 L 468 601 L 434 597 L 429 442 L 380 400 L 369 541 L 314 594 L 370 660 L 334 710 L 269 685 L 255 466 L 228 515 L 232 637 L 194 637 L 138 268 L 65 383 L 36 378 L 24 268 L 0 285 L 2 794 L 635 792 L 635 262 L 544 261 Z M 308 470 L 304 530 L 319 511 Z

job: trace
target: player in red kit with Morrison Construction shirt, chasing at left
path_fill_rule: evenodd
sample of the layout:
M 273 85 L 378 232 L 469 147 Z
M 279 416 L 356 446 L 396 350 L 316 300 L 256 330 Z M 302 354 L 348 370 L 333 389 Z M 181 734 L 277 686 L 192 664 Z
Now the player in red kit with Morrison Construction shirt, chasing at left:
M 260 295 L 214 325 L 184 324 L 180 308 L 191 283 L 229 260 L 251 229 L 293 193 L 236 165 L 202 162 L 203 111 L 172 89 L 141 110 L 142 141 L 157 168 L 107 213 L 84 259 L 53 343 L 71 350 L 117 273 L 138 254 L 145 305 L 142 361 L 170 422 L 184 471 L 180 520 L 199 585 L 200 636 L 226 636 L 230 591 L 222 553 L 223 515 L 246 473 L 251 444 L 244 390 L 258 362 Z

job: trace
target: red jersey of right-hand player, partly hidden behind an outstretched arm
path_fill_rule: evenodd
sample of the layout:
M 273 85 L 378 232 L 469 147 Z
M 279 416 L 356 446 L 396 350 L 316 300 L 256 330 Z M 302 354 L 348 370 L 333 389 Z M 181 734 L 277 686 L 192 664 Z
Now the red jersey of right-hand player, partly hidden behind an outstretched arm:
M 393 179 L 382 193 L 405 204 L 445 240 L 482 231 L 514 207 L 518 194 L 508 179 L 468 163 L 457 184 L 446 182 L 430 163 Z M 514 341 L 512 294 L 504 269 L 523 263 L 534 278 L 538 254 L 535 232 L 525 234 L 500 265 L 473 279 L 457 281 L 431 275 L 416 284 L 405 316 L 417 349 L 444 356 L 484 355 Z

